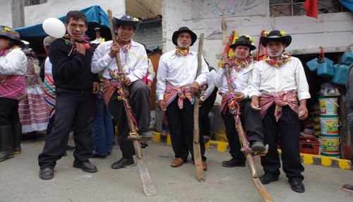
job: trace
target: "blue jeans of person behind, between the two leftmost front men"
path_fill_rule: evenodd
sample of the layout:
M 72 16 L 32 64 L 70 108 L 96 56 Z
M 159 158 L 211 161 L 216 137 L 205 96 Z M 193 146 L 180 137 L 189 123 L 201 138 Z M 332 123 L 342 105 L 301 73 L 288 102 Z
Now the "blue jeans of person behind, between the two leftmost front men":
M 99 155 L 107 155 L 113 150 L 113 120 L 109 109 L 104 105 L 104 100 L 96 102 L 95 124 L 92 129 L 93 133 L 93 153 Z

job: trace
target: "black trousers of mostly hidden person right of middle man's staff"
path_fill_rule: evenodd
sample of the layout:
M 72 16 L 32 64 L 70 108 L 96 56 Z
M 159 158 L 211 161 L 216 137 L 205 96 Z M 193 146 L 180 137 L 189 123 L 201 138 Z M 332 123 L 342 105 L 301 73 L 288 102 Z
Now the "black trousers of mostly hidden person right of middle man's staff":
M 208 118 L 208 113 L 210 113 L 213 105 L 215 104 L 215 100 L 217 97 L 218 88 L 215 88 L 210 96 L 202 103 L 199 108 L 199 116 L 200 116 L 200 133 L 201 136 L 210 136 L 210 119 Z

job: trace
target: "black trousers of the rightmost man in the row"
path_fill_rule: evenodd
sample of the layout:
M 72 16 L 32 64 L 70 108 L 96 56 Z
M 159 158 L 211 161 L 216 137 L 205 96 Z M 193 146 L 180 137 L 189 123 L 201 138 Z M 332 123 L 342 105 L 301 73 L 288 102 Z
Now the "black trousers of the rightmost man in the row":
M 267 174 L 280 175 L 280 157 L 277 151 L 277 143 L 280 142 L 282 150 L 283 171 L 289 179 L 302 181 L 304 167 L 301 165 L 299 154 L 300 122 L 298 114 L 287 105 L 282 107 L 282 116 L 275 119 L 275 104 L 268 108 L 263 117 L 263 130 L 265 131 L 265 143 L 269 145 L 267 155 L 261 157 L 261 165 Z

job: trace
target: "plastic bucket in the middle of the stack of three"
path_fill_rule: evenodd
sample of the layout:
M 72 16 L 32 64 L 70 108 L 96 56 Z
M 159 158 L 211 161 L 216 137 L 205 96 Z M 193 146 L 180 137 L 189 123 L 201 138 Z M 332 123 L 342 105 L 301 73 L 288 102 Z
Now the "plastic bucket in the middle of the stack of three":
M 320 117 L 321 135 L 323 136 L 338 136 L 338 127 L 340 121 L 338 116 Z

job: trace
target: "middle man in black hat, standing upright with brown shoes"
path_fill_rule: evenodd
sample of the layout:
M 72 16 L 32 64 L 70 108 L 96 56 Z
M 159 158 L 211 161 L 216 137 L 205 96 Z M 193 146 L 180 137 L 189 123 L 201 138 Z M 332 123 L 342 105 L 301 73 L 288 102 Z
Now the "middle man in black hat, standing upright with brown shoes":
M 193 158 L 193 96 L 206 83 L 210 72 L 202 57 L 201 73 L 196 78 L 198 52 L 190 50 L 196 34 L 182 27 L 175 31 L 172 42 L 177 47 L 160 57 L 157 72 L 158 107 L 167 114 L 175 159 L 172 167 L 183 165 L 189 152 Z M 200 136 L 203 170 L 207 170 L 205 145 Z

